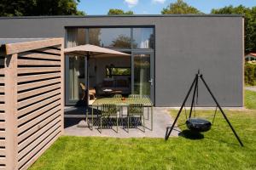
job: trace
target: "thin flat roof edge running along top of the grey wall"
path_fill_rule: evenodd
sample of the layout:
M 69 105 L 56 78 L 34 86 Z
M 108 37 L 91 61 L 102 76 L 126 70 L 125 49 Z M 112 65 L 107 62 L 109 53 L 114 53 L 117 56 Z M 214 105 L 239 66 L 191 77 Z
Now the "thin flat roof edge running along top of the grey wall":
M 243 14 L 122 14 L 122 15 L 53 15 L 53 16 L 14 16 L 6 19 L 48 19 L 48 18 L 104 18 L 104 17 L 244 17 Z

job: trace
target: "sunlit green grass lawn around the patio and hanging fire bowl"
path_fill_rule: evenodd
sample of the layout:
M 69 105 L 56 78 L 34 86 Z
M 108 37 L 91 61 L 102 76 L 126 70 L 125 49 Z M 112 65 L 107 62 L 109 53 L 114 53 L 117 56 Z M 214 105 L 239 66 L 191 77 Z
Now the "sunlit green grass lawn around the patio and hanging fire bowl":
M 218 112 L 212 129 L 203 133 L 203 139 L 178 137 L 165 141 L 64 136 L 30 170 L 256 169 L 256 102 L 253 102 L 256 93 L 247 91 L 246 98 L 251 110 L 226 111 L 245 147 L 238 144 Z M 212 116 L 213 111 L 196 113 Z M 177 111 L 171 114 L 176 116 Z M 179 121 L 181 124 L 185 121 L 184 115 Z

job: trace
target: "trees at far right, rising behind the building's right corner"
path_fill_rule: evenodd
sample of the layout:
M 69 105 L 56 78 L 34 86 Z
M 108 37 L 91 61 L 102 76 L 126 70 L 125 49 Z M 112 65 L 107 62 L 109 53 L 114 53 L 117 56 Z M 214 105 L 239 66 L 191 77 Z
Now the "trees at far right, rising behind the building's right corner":
M 245 16 L 245 53 L 256 51 L 256 7 L 246 8 L 242 5 L 237 7 L 226 6 L 213 8 L 212 14 L 243 14 Z

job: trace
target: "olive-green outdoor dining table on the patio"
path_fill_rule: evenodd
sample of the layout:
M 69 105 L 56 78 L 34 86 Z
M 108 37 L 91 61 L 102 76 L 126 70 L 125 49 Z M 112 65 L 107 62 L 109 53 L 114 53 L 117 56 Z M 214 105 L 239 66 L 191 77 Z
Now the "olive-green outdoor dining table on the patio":
M 151 112 L 151 128 L 150 130 L 153 130 L 153 103 L 151 99 L 144 97 L 144 98 L 102 98 L 102 99 L 96 99 L 90 106 L 91 106 L 91 124 L 93 127 L 93 117 L 94 117 L 94 108 L 97 109 L 101 107 L 103 104 L 115 104 L 119 107 L 128 107 L 129 104 L 143 104 L 143 107 L 150 108 Z M 86 115 L 86 119 L 88 119 L 88 115 Z

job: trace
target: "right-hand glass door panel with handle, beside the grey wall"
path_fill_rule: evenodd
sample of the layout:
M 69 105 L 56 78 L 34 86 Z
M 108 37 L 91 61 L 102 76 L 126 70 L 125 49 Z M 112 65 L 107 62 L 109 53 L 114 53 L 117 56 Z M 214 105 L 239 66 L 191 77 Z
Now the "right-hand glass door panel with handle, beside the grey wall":
M 132 53 L 132 94 L 146 95 L 154 101 L 154 56 L 150 52 Z

